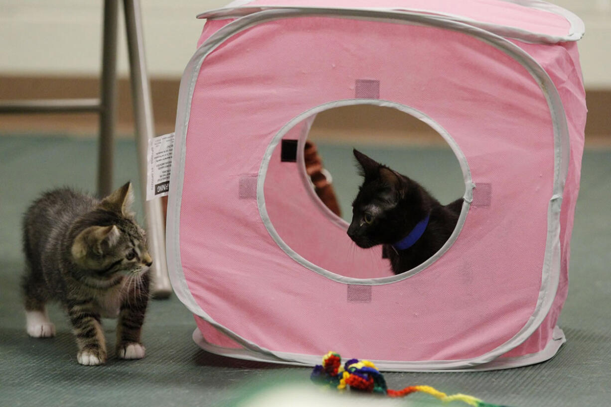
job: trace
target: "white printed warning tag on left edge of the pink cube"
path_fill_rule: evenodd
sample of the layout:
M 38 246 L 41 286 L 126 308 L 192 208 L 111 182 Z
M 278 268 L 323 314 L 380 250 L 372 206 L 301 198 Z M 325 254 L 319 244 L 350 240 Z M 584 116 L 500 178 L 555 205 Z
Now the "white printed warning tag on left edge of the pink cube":
M 170 170 L 174 152 L 174 133 L 148 140 L 147 201 L 166 196 L 170 190 Z

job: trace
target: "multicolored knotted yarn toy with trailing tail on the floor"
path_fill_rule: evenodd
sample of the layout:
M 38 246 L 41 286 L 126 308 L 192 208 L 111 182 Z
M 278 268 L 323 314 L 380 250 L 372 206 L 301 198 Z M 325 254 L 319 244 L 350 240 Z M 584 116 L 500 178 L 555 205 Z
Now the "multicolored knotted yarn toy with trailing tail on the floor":
M 405 397 L 411 393 L 423 392 L 439 398 L 442 402 L 463 402 L 475 407 L 505 407 L 485 403 L 479 398 L 466 394 L 447 395 L 431 386 L 408 386 L 403 390 L 391 390 L 386 387 L 384 376 L 373 363 L 350 359 L 342 366 L 342 358 L 335 352 L 323 356 L 323 364 L 314 367 L 310 379 L 340 391 L 344 391 L 349 386 L 351 390 L 383 394 L 388 397 Z

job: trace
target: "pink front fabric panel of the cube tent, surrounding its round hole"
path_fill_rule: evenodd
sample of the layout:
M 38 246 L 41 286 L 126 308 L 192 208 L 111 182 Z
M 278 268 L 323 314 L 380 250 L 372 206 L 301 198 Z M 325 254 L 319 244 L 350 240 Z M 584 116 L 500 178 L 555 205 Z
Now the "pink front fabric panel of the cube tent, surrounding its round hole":
M 398 47 L 397 38 L 411 41 Z M 458 142 L 475 183 L 492 185 L 491 205 L 472 207 L 439 261 L 371 287 L 370 302 L 347 301 L 345 284 L 286 256 L 257 201 L 238 195 L 284 124 L 354 97 L 357 79 L 377 79 L 381 99 L 430 115 Z M 535 307 L 553 151 L 538 85 L 472 37 L 334 18 L 260 24 L 212 52 L 197 80 L 180 220 L 186 280 L 216 322 L 270 350 L 315 355 L 334 346 L 356 358 L 413 361 L 481 355 L 517 333 Z M 310 199 L 302 182 L 285 180 L 281 196 L 265 190 L 268 206 Z M 288 210 L 304 225 L 337 229 L 307 206 Z M 324 246 L 310 240 L 311 253 Z M 345 240 L 324 243 L 334 252 Z

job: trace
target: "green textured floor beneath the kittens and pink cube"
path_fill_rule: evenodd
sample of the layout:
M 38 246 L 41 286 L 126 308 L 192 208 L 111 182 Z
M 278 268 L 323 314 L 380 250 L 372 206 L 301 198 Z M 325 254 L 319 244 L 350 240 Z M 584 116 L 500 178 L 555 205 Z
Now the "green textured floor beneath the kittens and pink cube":
M 345 159 L 351 146 L 319 146 L 335 177 L 343 211 L 349 213 L 358 182 L 353 162 Z M 23 268 L 21 214 L 45 189 L 71 185 L 92 190 L 96 147 L 95 140 L 88 139 L 0 137 L 0 406 L 246 406 L 253 392 L 271 383 L 309 385 L 309 368 L 239 361 L 200 350 L 191 340 L 192 315 L 175 297 L 152 301 L 143 334 L 147 356 L 140 361 L 111 356 L 101 367 L 79 366 L 68 322 L 56 306 L 49 307 L 49 314 L 57 336 L 27 336 L 18 289 Z M 130 140 L 117 142 L 115 185 L 137 181 L 135 151 Z M 414 178 L 434 185 L 431 190 L 442 201 L 463 192 L 458 164 L 452 166 L 447 150 L 400 153 L 396 148 L 369 146 L 364 151 L 386 157 L 387 164 L 406 173 L 426 168 Z M 401 167 L 404 164 L 412 167 Z M 472 394 L 514 407 L 611 405 L 610 179 L 611 151 L 586 151 L 572 240 L 571 286 L 560 319 L 568 342 L 554 359 L 496 372 L 386 373 L 389 387 L 429 384 L 448 394 Z M 104 327 L 112 348 L 114 322 L 104 320 Z M 367 405 L 381 404 L 373 398 L 364 400 Z M 298 405 L 298 401 L 288 398 L 279 405 Z M 400 405 L 441 404 L 414 395 Z

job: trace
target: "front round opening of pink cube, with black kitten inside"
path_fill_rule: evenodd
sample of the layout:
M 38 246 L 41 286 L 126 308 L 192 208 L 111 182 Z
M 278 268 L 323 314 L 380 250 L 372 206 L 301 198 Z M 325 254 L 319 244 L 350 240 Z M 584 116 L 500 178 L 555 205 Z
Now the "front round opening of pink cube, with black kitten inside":
M 263 194 L 268 230 L 293 259 L 330 278 L 393 279 L 419 272 L 447 250 L 440 249 L 461 226 L 466 178 L 458 146 L 452 149 L 443 132 L 401 105 L 304 113 L 280 131 L 269 160 Z M 439 211 L 451 216 L 430 239 L 440 226 Z M 430 240 L 435 247 L 422 247 Z M 403 270 L 403 264 L 413 267 Z

